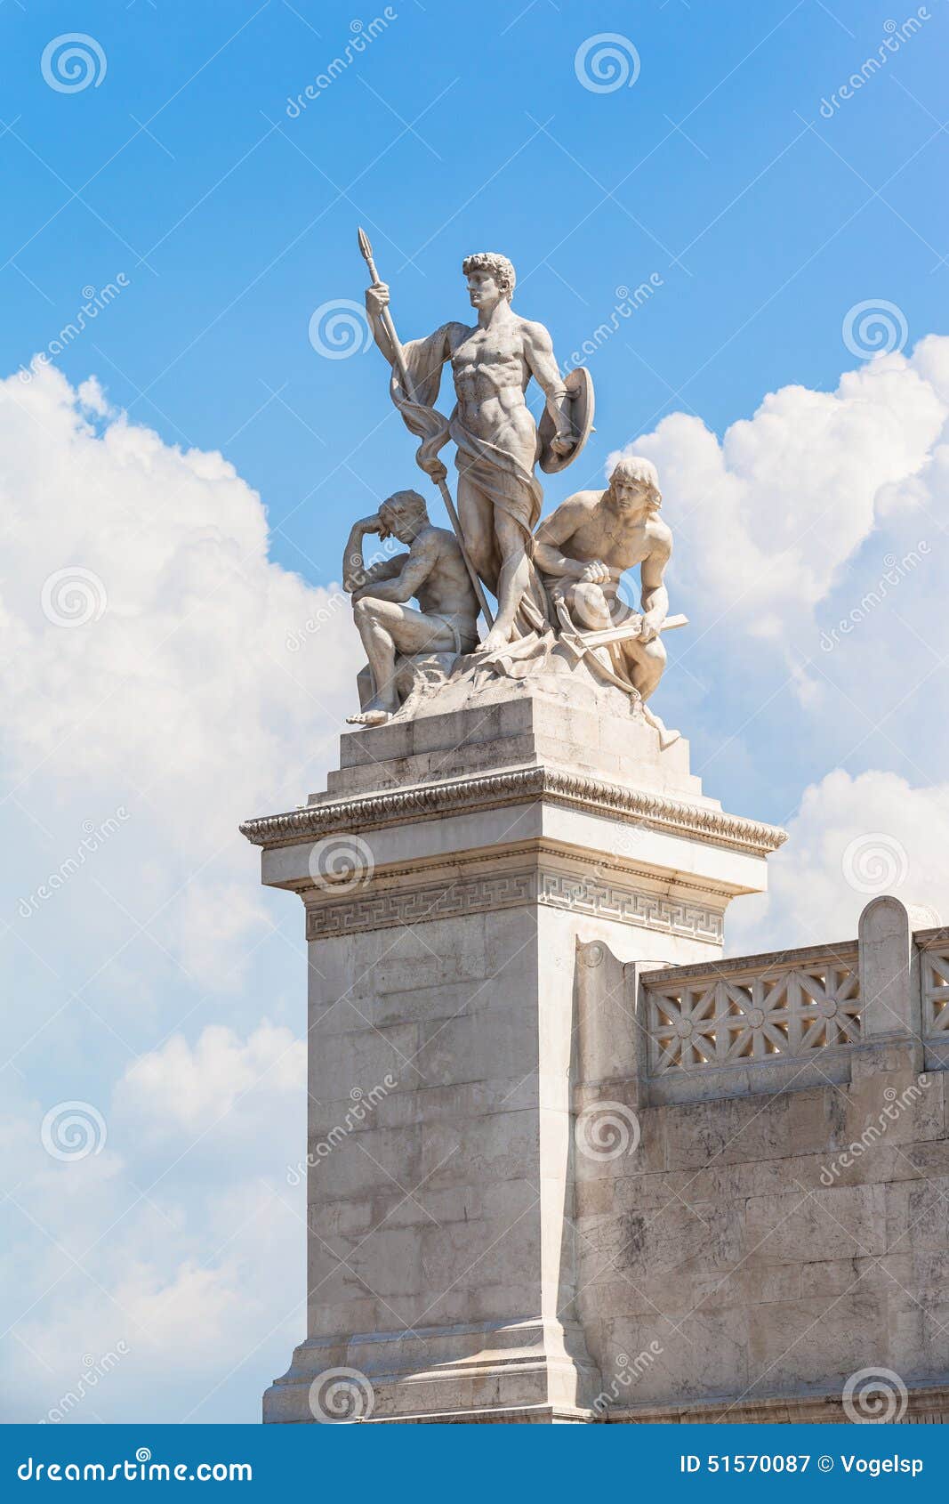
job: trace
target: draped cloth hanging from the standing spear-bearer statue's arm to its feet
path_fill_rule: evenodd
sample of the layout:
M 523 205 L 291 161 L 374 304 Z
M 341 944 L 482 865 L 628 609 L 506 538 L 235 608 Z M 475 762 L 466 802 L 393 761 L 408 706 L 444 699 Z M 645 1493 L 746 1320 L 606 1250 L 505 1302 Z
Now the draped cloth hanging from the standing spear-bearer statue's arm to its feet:
M 471 433 L 459 418 L 457 406 L 451 418 L 445 418 L 435 403 L 442 379 L 442 365 L 448 358 L 451 325 L 442 325 L 424 340 L 409 340 L 402 352 L 412 384 L 414 399 L 403 388 L 399 368 L 393 367 L 390 394 L 403 421 L 415 438 L 421 439 L 415 459 L 421 469 L 432 474 L 439 450 L 454 441 L 459 475 L 486 495 L 492 504 L 507 513 L 523 532 L 528 559 L 532 556 L 532 532 L 540 519 L 543 489 L 535 475 L 525 469 L 520 460 L 507 450 Z M 496 593 L 498 581 L 486 579 L 489 590 Z M 541 579 L 531 561 L 531 579 L 519 612 L 520 630 L 538 627 L 552 621 L 552 612 Z

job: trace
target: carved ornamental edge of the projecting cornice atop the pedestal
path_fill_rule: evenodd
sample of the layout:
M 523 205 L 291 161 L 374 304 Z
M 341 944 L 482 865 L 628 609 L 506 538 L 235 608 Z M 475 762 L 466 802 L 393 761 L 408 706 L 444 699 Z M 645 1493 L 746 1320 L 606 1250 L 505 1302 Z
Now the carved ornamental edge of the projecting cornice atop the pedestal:
M 656 830 L 684 835 L 695 841 L 766 856 L 787 841 L 787 830 L 766 826 L 741 815 L 728 815 L 705 805 L 689 805 L 666 794 L 647 793 L 623 784 L 608 784 L 587 775 L 556 767 L 519 767 L 478 778 L 418 784 L 353 799 L 307 805 L 283 815 L 247 820 L 241 832 L 254 845 L 292 845 L 317 839 L 335 830 L 368 830 L 403 820 L 433 820 L 439 815 L 492 809 L 531 799 L 609 814 L 618 820 L 641 821 Z

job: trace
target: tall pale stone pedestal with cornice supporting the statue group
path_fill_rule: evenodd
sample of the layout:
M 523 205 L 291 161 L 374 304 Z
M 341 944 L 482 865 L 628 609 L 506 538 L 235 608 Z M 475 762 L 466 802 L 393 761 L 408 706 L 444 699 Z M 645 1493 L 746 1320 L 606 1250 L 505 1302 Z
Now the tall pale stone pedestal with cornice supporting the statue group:
M 310 955 L 308 1327 L 265 1420 L 590 1420 L 578 940 L 714 960 L 782 833 L 576 680 L 435 696 L 328 782 L 242 827 Z

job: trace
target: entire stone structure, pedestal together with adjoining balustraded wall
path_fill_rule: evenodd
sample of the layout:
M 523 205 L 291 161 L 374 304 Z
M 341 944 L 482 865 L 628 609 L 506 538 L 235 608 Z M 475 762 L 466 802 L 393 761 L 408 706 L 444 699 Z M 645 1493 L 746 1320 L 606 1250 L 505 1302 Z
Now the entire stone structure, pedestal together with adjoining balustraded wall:
M 947 931 L 878 899 L 722 960 L 784 833 L 510 681 L 244 830 L 310 958 L 308 1318 L 265 1420 L 847 1420 L 869 1369 L 941 1414 Z

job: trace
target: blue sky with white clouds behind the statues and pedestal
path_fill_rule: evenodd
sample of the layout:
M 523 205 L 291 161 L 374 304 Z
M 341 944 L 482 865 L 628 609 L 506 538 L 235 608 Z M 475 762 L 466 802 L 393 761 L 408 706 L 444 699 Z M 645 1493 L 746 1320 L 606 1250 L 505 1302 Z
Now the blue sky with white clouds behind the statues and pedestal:
M 385 24 L 353 51 L 376 17 Z M 919 26 L 902 41 L 907 17 Z M 11 1372 L 23 1379 L 35 1354 L 17 1418 L 54 1403 L 93 1340 L 120 1340 L 96 1284 L 146 1328 L 171 1290 L 179 1325 L 156 1325 L 179 1348 L 193 1311 L 214 1313 L 183 1379 L 173 1343 L 128 1337 L 141 1370 L 132 1355 L 122 1396 L 102 1385 L 104 1418 L 253 1418 L 302 1333 L 296 1310 L 260 1295 L 268 1262 L 287 1289 L 302 1280 L 301 1208 L 281 1181 L 301 1142 L 301 916 L 284 895 L 257 895 L 254 854 L 229 833 L 304 799 L 332 763 L 352 708 L 349 624 L 295 657 L 280 644 L 328 599 L 350 520 L 415 483 L 379 353 L 331 359 L 310 338 L 316 310 L 362 299 L 358 224 L 406 337 L 466 316 L 472 250 L 513 259 L 516 307 L 549 326 L 561 361 L 611 319 L 617 289 L 653 278 L 590 356 L 597 432 L 546 505 L 599 481 L 624 447 L 660 466 L 672 609 L 692 627 L 671 644 L 659 708 L 690 738 L 707 793 L 797 832 L 794 866 L 778 869 L 788 875 L 741 938 L 847 929 L 862 898 L 836 896 L 841 850 L 866 832 L 884 832 L 914 895 L 931 898 L 947 818 L 944 717 L 931 710 L 949 650 L 937 626 L 947 29 L 944 0 L 3 6 L 3 602 L 20 707 L 5 805 L 18 853 L 9 1131 L 32 1145 L 44 1111 L 74 1098 L 101 1104 L 111 1130 L 81 1169 L 99 1176 L 84 1182 L 80 1239 L 96 1250 L 95 1278 L 86 1259 L 80 1272 L 56 1263 L 71 1227 L 56 1221 L 60 1181 L 48 1205 L 17 1212 L 29 1295 L 14 1304 L 30 1316 L 24 1327 L 11 1310 Z M 98 83 L 75 92 L 41 66 L 68 33 L 101 54 Z M 578 77 L 578 51 L 600 33 L 623 39 L 627 65 L 635 53 L 632 86 L 597 92 Z M 886 60 L 839 98 L 871 56 Z M 287 108 L 335 57 L 350 60 Z M 21 382 L 84 289 L 110 283 L 117 295 L 56 353 L 69 385 L 48 371 Z M 893 331 L 883 359 L 854 347 L 863 302 L 883 304 Z M 235 561 L 245 596 L 221 585 Z M 39 611 L 44 582 L 72 566 L 108 585 L 90 633 L 57 633 Z M 887 570 L 883 603 L 821 647 Z M 96 862 L 18 917 L 84 821 L 104 820 L 114 830 Z M 278 1092 L 274 1072 L 254 1087 L 260 1062 Z M 168 1140 L 158 1104 L 189 1072 L 230 1084 Z M 245 1126 L 224 1142 L 215 1125 L 247 1093 L 232 1114 Z M 266 1149 L 251 1143 L 257 1122 Z M 53 1170 L 36 1172 L 38 1194 Z M 254 1223 L 227 1265 L 242 1245 L 230 1212 L 257 1205 L 244 1170 L 262 1206 L 278 1185 L 286 1217 L 280 1238 Z M 119 1187 L 132 1187 L 134 1211 Z M 129 1245 L 107 1236 L 116 1217 Z M 253 1354 L 227 1348 L 235 1321 L 253 1328 Z

